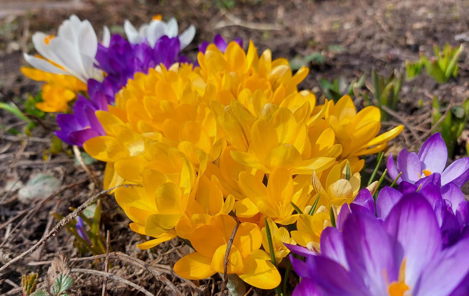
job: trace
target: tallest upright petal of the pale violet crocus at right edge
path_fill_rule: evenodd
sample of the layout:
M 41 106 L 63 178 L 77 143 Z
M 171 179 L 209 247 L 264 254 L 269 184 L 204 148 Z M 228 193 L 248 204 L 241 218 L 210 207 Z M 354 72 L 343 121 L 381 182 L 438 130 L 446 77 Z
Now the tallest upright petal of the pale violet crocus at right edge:
M 443 172 L 448 158 L 448 150 L 439 132 L 434 133 L 425 141 L 420 151 L 418 151 L 418 158 L 425 164 L 424 169 L 432 173 Z

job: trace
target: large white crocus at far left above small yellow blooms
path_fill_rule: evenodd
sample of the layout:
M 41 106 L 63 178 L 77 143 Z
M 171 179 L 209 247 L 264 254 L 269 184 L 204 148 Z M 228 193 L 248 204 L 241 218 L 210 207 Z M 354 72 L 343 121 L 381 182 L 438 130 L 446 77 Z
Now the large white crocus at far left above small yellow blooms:
M 45 58 L 24 53 L 24 59 L 32 67 L 53 74 L 71 75 L 83 83 L 90 78 L 103 80 L 101 70 L 94 65 L 98 38 L 88 20 L 80 21 L 77 16 L 72 15 L 59 26 L 57 36 L 36 32 L 32 36 L 32 43 L 39 55 Z

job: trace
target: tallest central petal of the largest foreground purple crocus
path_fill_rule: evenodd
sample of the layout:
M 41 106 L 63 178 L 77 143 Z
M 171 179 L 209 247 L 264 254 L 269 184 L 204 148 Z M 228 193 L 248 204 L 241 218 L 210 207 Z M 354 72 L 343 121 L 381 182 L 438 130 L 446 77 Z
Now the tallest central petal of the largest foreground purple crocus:
M 441 249 L 441 231 L 430 203 L 418 193 L 405 195 L 383 226 L 394 240 L 390 254 L 394 254 L 396 263 L 401 265 L 406 259 L 406 285 L 415 287 L 425 265 Z

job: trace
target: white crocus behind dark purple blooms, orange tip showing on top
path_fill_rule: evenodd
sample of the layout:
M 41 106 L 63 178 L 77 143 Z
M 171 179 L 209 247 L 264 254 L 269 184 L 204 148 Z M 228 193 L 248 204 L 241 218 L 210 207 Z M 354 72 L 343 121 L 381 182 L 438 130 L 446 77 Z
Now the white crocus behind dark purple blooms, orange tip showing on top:
M 190 25 L 189 28 L 178 36 L 179 26 L 174 17 L 167 23 L 160 19 L 154 19 L 151 23 L 141 25 L 138 30 L 129 20 L 125 20 L 124 31 L 130 43 L 140 44 L 144 42 L 144 40 L 147 40 L 151 48 L 155 47 L 156 41 L 158 41 L 159 38 L 166 35 L 169 38 L 178 37 L 181 49 L 183 49 L 189 45 L 196 35 L 196 28 L 194 25 Z

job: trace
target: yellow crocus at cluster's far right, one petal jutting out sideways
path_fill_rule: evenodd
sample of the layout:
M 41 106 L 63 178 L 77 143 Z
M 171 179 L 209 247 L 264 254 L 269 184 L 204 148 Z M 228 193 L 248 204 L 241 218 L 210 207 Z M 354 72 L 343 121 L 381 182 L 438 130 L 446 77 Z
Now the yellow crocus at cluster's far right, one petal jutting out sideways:
M 389 140 L 404 129 L 398 125 L 378 136 L 381 129 L 381 113 L 375 106 L 368 106 L 356 112 L 350 96 L 345 95 L 337 103 L 327 102 L 325 120 L 335 132 L 342 145 L 340 159 L 378 153 L 386 148 Z

